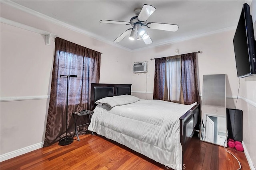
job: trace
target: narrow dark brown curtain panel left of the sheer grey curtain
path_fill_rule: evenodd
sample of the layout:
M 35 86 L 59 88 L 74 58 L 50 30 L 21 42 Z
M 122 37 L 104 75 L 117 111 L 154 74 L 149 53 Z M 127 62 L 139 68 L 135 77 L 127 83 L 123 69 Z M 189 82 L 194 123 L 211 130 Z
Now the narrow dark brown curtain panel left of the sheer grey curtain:
M 153 99 L 164 100 L 166 57 L 155 59 Z

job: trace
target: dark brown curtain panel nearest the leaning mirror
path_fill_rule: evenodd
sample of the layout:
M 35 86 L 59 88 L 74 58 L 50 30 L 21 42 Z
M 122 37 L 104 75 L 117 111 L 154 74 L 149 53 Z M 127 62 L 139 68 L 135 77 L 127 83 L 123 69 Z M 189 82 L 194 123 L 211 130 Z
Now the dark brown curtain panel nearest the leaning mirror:
M 196 68 L 196 53 L 181 55 L 181 86 L 184 104 L 200 103 Z

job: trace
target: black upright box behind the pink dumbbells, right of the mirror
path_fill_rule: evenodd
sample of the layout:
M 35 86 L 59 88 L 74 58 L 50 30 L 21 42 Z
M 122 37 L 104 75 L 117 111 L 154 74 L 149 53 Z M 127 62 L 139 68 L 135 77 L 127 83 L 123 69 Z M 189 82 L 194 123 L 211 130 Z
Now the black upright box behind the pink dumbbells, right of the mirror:
M 227 109 L 228 139 L 242 142 L 243 140 L 243 111 Z

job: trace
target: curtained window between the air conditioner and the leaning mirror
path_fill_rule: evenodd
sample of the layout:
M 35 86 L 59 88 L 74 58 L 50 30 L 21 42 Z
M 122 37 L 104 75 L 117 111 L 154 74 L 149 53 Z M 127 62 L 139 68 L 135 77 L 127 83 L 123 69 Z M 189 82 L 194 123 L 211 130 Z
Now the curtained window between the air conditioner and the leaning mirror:
M 155 59 L 153 99 L 200 102 L 197 79 L 196 53 Z

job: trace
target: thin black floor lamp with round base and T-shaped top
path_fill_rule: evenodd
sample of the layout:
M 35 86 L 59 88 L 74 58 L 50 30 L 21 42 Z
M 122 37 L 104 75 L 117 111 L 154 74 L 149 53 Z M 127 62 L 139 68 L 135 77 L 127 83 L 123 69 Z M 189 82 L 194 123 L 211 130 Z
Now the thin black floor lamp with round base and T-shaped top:
M 60 77 L 67 78 L 67 102 L 66 102 L 66 137 L 60 139 L 59 145 L 65 146 L 73 143 L 74 139 L 72 137 L 68 137 L 68 80 L 69 77 L 77 77 L 76 75 L 60 75 Z

